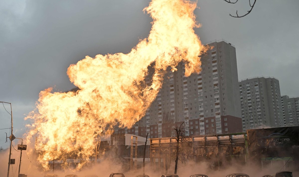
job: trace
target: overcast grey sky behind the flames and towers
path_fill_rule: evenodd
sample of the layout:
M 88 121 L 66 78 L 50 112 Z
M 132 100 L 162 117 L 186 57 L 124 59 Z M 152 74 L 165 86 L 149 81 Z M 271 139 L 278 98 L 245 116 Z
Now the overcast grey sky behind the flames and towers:
M 74 88 L 66 75 L 70 64 L 86 55 L 128 53 L 149 34 L 152 19 L 143 13 L 149 0 L 0 1 L 0 101 L 13 106 L 14 134 L 25 132 L 25 114 L 39 91 Z M 239 80 L 274 76 L 282 95 L 299 95 L 299 1 L 257 0 L 228 4 L 198 0 L 195 11 L 203 43 L 225 39 L 236 47 Z M 5 105 L 7 110 L 9 105 Z M 0 105 L 0 129 L 10 115 Z M 28 122 L 27 122 L 28 123 Z M 0 130 L 0 147 L 7 130 Z

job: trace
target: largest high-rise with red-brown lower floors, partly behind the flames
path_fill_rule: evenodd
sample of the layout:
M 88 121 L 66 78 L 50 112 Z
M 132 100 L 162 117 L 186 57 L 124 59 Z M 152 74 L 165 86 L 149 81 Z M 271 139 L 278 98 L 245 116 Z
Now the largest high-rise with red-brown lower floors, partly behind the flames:
M 214 48 L 201 58 L 201 73 L 185 77 L 183 63 L 169 70 L 146 115 L 132 129 L 117 132 L 170 137 L 182 123 L 189 135 L 242 132 L 236 49 L 224 40 L 208 45 Z

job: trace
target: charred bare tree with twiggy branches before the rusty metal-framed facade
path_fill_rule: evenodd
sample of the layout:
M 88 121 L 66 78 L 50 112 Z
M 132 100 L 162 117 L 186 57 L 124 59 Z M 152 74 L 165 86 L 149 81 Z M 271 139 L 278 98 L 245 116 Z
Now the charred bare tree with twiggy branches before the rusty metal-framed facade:
M 185 129 L 182 127 L 184 124 L 181 123 L 180 126 L 174 128 L 175 135 L 173 138 L 176 140 L 176 159 L 175 159 L 175 167 L 174 174 L 177 173 L 178 170 L 178 161 L 184 161 L 184 157 L 193 158 L 193 148 L 192 148 L 192 139 L 189 136 L 189 129 Z M 179 158 L 179 154 L 181 154 L 181 159 Z M 183 155 L 182 155 L 183 154 Z

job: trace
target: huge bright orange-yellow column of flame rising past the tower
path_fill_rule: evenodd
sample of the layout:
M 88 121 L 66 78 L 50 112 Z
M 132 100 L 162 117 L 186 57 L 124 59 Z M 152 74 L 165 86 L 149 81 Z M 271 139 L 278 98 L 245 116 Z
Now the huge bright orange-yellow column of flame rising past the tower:
M 153 18 L 152 30 L 129 54 L 86 57 L 68 68 L 76 93 L 41 91 L 36 111 L 25 119 L 27 141 L 35 142 L 38 161 L 48 170 L 48 161 L 79 160 L 81 169 L 94 155 L 97 137 L 111 133 L 113 126 L 131 127 L 140 120 L 162 86 L 168 66 L 185 63 L 185 75 L 200 72 L 203 46 L 193 28 L 196 2 L 153 0 L 144 9 Z M 144 83 L 147 67 L 155 62 L 151 85 Z M 36 137 L 36 139 L 35 139 Z

